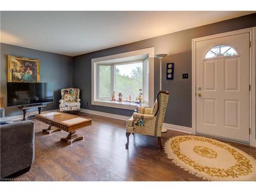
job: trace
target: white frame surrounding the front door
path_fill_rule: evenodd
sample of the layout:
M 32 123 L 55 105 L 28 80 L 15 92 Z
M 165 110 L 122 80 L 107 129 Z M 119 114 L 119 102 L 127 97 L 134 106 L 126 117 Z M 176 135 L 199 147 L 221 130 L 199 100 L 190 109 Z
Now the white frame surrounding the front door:
M 231 35 L 237 35 L 242 33 L 250 33 L 250 146 L 256 147 L 256 138 L 255 138 L 255 36 L 256 27 L 230 31 L 226 33 L 219 33 L 215 35 L 209 35 L 205 37 L 199 37 L 192 39 L 192 133 L 196 134 L 196 42 L 209 40 L 214 38 L 226 37 Z M 249 45 L 248 45 L 249 46 Z M 249 127 L 248 127 L 249 129 Z

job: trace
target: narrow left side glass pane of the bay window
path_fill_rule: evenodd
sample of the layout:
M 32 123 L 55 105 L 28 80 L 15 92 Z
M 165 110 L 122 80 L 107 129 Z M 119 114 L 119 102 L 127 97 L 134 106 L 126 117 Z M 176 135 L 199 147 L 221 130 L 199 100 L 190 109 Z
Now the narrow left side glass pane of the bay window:
M 99 66 L 98 98 L 111 97 L 111 66 Z

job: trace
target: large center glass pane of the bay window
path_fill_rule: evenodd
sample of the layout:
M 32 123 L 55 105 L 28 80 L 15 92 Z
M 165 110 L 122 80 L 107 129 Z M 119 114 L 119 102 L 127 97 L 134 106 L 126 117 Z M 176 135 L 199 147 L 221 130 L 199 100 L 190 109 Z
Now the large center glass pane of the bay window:
M 115 92 L 122 93 L 125 101 L 129 95 L 132 101 L 139 96 L 139 89 L 143 90 L 142 61 L 115 66 Z

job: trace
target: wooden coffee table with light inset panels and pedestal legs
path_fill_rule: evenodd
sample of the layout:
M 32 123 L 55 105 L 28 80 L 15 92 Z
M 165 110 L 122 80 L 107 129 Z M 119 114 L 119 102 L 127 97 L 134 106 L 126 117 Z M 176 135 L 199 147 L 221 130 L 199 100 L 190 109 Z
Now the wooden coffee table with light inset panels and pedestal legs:
M 60 112 L 38 114 L 36 115 L 36 119 L 49 124 L 48 129 L 42 130 L 42 133 L 50 134 L 61 130 L 68 132 L 69 135 L 66 138 L 60 139 L 61 143 L 68 145 L 73 141 L 83 139 L 83 136 L 77 136 L 76 130 L 92 125 L 92 119 Z

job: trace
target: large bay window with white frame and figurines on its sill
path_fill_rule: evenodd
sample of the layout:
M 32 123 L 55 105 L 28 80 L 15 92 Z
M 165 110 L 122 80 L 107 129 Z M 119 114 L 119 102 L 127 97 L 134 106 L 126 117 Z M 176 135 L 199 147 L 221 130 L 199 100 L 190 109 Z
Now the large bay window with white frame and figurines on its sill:
M 145 51 L 148 49 L 150 48 Z M 92 104 L 135 109 L 139 105 L 137 102 L 139 90 L 142 89 L 142 105 L 152 105 L 154 57 L 150 59 L 150 54 L 154 54 L 154 48 L 153 52 L 151 50 L 150 53 L 145 52 L 140 55 L 121 57 L 123 54 L 118 54 L 107 56 L 109 59 L 106 57 L 92 59 Z M 150 60 L 153 63 L 150 63 Z M 153 79 L 150 79 L 152 77 Z M 115 92 L 116 101 L 111 101 L 113 92 Z M 118 101 L 119 93 L 122 94 L 122 102 Z

